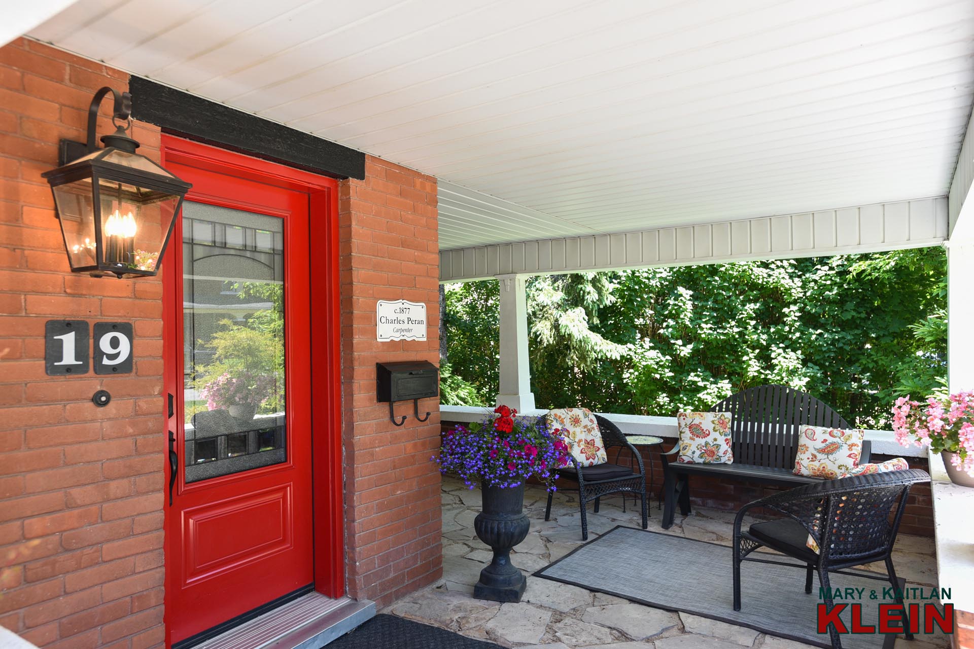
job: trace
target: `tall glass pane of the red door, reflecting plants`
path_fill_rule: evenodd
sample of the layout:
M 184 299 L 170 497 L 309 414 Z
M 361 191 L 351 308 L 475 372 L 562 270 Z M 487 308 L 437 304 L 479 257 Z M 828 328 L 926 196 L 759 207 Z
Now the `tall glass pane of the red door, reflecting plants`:
M 281 219 L 183 205 L 186 482 L 283 462 Z

